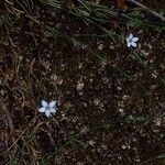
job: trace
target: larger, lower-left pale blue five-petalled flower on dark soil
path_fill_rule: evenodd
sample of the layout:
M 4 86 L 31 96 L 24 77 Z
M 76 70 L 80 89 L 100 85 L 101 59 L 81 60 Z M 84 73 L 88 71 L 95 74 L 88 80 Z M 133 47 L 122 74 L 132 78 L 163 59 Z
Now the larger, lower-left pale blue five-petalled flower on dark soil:
M 57 110 L 56 103 L 56 100 L 51 102 L 42 100 L 42 108 L 40 108 L 38 111 L 45 113 L 46 117 L 52 117 L 52 114 L 55 114 Z

